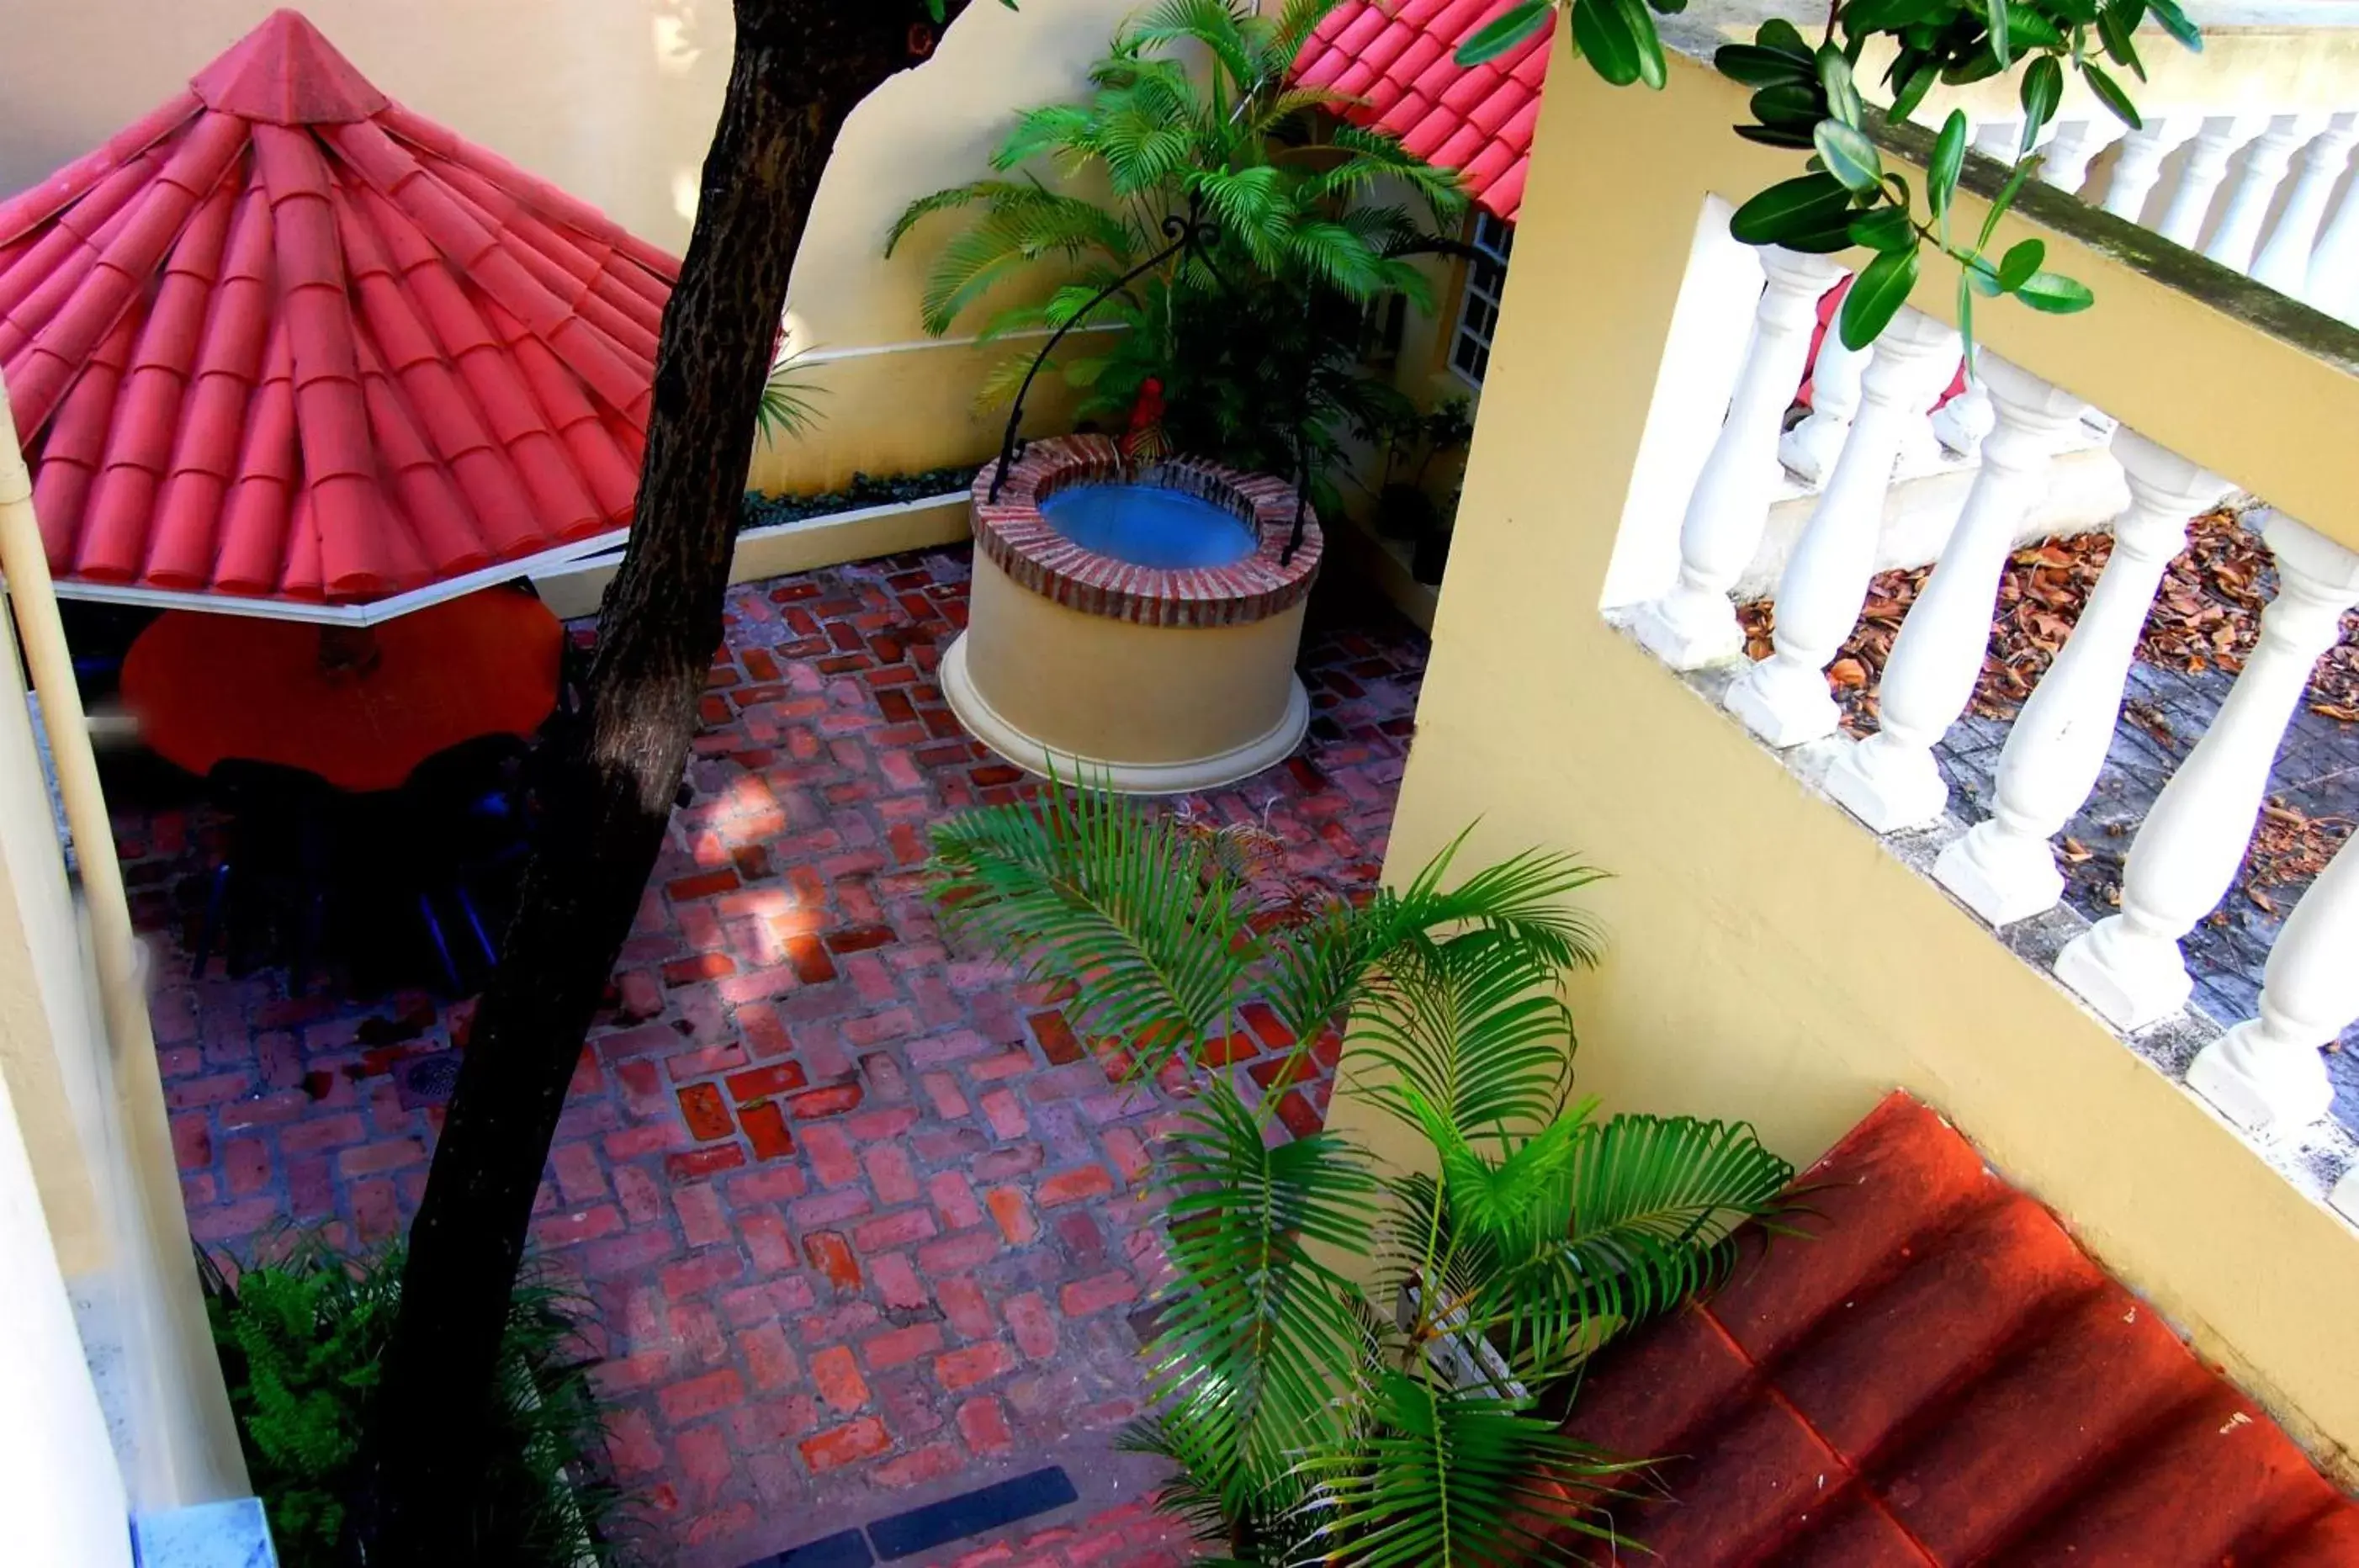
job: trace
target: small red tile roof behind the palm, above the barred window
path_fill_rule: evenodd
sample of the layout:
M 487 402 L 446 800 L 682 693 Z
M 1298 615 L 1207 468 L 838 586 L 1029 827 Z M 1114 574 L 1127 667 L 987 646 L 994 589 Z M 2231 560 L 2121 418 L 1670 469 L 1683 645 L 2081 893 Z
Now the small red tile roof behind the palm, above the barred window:
M 1345 111 L 1349 120 L 1458 170 L 1477 203 L 1514 222 L 1555 17 L 1514 52 L 1460 66 L 1458 45 L 1500 7 L 1503 0 L 1345 0 L 1302 45 L 1295 80 L 1361 99 Z

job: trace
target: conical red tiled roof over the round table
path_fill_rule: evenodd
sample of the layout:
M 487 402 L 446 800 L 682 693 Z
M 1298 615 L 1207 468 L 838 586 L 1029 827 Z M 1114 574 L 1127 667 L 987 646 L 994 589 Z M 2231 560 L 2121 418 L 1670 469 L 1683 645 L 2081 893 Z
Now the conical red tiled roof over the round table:
M 0 203 L 50 568 L 368 604 L 613 533 L 677 274 L 276 12 Z

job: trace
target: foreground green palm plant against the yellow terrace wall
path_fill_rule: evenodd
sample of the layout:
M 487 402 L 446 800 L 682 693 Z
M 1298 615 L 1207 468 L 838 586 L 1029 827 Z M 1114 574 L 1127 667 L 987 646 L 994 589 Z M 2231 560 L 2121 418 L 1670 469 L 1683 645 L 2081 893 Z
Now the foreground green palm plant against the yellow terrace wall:
M 1557 1431 L 1576 1375 L 1713 1285 L 1793 1170 L 1743 1125 L 1573 1101 L 1559 981 L 1597 931 L 1566 896 L 1599 872 L 1529 851 L 1453 877 L 1460 835 L 1401 889 L 1305 901 L 1257 839 L 1054 788 L 934 832 L 953 931 L 1069 988 L 1130 1073 L 1208 1056 L 1262 1000 L 1295 1052 L 1349 1026 L 1349 1092 L 1420 1146 L 1392 1170 L 1274 1141 L 1203 1078 L 1156 1177 L 1170 1287 L 1128 1441 L 1231 1563 L 1569 1556 L 1557 1533 L 1604 1533 L 1569 1497 L 1628 1469 Z

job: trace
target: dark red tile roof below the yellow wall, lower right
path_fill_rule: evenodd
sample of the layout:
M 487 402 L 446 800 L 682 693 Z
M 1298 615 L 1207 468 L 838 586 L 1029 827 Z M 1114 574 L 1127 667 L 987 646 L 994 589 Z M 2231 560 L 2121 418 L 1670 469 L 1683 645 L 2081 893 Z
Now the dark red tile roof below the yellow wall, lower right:
M 2359 1563 L 2359 1507 L 1932 1111 L 1894 1094 L 1798 1186 L 1809 1238 L 1581 1391 L 1573 1436 L 1680 1455 L 1623 1561 Z

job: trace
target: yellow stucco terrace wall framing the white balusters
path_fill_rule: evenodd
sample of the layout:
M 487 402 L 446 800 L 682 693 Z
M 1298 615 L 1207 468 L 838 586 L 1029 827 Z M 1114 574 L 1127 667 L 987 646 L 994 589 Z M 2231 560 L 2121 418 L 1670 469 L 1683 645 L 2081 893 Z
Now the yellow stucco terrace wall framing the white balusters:
M 2359 1236 L 1595 608 L 1701 200 L 1793 172 L 1741 118 L 1687 61 L 1614 92 L 1559 50 L 1389 875 L 1467 823 L 1460 863 L 1588 851 L 1614 879 L 1571 995 L 1583 1092 L 1809 1160 L 1904 1085 L 2347 1464 Z M 2359 545 L 2347 373 L 2052 233 L 2050 266 L 2097 309 L 1986 309 L 1989 347 Z M 1399 1151 L 1347 1099 L 1335 1120 Z

